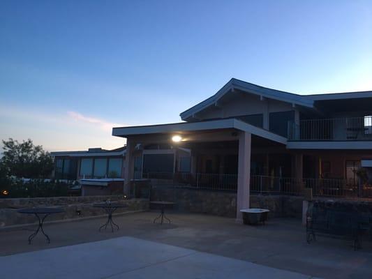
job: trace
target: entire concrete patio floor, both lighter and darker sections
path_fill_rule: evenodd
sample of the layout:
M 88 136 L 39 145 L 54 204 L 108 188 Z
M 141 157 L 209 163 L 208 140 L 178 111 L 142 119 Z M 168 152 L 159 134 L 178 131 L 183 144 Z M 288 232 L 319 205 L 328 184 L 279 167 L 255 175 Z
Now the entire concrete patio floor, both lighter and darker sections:
M 322 237 L 308 245 L 297 219 L 251 227 L 232 218 L 173 213 L 172 224 L 157 225 L 151 223 L 156 214 L 117 216 L 121 229 L 114 233 L 98 232 L 103 218 L 47 224 L 50 244 L 38 235 L 28 245 L 31 227 L 0 231 L 1 271 L 6 278 L 32 278 L 32 272 L 38 278 L 372 277 L 370 242 L 358 251 L 349 241 Z M 15 271 L 21 262 L 24 268 Z

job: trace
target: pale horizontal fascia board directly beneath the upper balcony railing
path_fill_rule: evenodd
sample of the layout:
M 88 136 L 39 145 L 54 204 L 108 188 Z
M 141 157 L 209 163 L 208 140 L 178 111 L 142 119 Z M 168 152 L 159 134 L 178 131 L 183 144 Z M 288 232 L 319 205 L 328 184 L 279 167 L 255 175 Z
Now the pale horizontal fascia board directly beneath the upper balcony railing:
M 372 141 L 288 142 L 287 149 L 372 149 Z

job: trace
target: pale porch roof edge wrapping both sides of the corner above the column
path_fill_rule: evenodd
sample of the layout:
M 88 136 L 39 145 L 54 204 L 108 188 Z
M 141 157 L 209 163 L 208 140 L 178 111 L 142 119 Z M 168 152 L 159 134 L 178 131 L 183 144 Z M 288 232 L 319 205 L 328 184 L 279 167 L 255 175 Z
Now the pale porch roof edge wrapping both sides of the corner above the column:
M 287 138 L 271 133 L 269 130 L 258 128 L 238 119 L 218 119 L 198 122 L 169 123 L 151 126 L 131 126 L 112 128 L 112 135 L 116 137 L 131 137 L 137 135 L 192 133 L 208 130 L 235 129 L 241 130 L 258 137 L 287 144 Z

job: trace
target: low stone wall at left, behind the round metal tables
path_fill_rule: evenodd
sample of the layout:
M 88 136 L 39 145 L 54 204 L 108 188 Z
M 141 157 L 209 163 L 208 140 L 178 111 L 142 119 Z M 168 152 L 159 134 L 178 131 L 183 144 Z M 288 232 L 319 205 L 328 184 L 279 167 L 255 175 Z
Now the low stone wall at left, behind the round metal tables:
M 128 204 L 124 209 L 117 209 L 115 213 L 128 211 L 147 211 L 148 199 L 123 199 L 123 196 L 91 196 L 91 197 L 35 197 L 22 199 L 0 199 L 0 229 L 15 225 L 36 223 L 36 217 L 29 214 L 17 213 L 17 209 L 33 206 L 61 206 L 66 212 L 48 216 L 47 221 L 71 220 L 103 216 L 103 209 L 93 207 L 94 203 L 112 202 Z M 47 222 L 46 221 L 46 222 Z

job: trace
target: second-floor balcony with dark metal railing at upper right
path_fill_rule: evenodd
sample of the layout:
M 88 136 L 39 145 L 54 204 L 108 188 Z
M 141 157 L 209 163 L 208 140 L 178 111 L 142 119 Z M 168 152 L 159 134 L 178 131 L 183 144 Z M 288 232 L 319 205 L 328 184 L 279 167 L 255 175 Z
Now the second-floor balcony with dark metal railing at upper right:
M 372 140 L 372 116 L 288 122 L 290 141 Z

